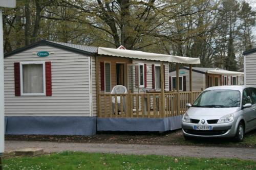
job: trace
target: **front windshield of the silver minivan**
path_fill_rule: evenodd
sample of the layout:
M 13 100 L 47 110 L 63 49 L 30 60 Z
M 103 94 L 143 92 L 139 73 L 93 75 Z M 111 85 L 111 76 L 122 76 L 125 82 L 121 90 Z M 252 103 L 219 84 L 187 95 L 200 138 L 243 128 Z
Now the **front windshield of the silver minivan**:
M 240 107 L 240 91 L 207 90 L 200 94 L 192 107 Z

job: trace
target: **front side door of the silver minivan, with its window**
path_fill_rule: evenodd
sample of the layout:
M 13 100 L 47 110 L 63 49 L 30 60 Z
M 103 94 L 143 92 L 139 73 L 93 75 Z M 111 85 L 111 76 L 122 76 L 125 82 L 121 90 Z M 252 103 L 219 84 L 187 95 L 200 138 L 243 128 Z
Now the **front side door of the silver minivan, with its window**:
M 242 98 L 242 105 L 245 105 L 247 103 L 252 104 L 252 100 L 251 100 L 251 90 L 249 88 L 244 89 L 243 91 L 243 98 Z M 245 118 L 245 128 L 246 130 L 249 130 L 252 128 L 252 115 L 254 113 L 253 107 L 249 107 L 249 108 L 244 108 L 243 109 L 243 114 L 244 114 L 244 118 Z

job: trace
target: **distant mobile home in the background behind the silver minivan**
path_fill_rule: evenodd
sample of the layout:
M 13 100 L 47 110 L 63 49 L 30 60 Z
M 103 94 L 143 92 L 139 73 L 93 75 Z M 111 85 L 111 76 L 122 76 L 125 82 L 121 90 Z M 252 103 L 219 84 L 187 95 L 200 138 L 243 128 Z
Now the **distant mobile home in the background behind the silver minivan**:
M 242 85 L 243 72 L 220 68 L 192 67 L 192 90 L 204 90 L 211 86 Z M 189 67 L 179 69 L 180 90 L 189 91 Z M 176 70 L 169 72 L 169 90 L 176 88 Z

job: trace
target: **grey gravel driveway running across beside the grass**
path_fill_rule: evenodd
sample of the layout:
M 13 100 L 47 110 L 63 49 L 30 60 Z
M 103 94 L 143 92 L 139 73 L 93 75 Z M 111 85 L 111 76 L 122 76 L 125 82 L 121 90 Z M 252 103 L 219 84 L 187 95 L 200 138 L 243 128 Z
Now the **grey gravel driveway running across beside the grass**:
M 149 144 L 114 144 L 114 143 L 67 143 L 48 141 L 13 141 L 5 142 L 6 152 L 24 148 L 42 148 L 46 152 L 80 151 L 135 155 L 167 155 L 204 158 L 238 158 L 256 160 L 254 148 L 200 147 L 188 145 L 149 145 Z

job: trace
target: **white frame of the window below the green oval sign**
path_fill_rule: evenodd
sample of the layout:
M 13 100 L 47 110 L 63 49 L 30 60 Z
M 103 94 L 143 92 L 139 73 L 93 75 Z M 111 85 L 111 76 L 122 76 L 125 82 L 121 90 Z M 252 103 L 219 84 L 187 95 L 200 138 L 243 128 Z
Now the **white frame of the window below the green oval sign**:
M 44 85 L 44 92 L 43 93 L 23 93 L 23 65 L 27 64 L 42 64 L 42 81 Z M 20 62 L 19 63 L 19 72 L 20 72 L 20 95 L 46 95 L 46 67 L 45 62 Z

